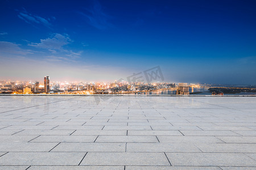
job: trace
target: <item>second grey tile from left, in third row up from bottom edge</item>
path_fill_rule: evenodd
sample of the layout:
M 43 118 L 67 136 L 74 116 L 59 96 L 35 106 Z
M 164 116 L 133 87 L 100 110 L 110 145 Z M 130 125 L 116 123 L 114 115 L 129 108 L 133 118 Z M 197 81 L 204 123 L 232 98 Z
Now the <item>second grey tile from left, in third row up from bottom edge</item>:
M 125 143 L 60 143 L 52 152 L 125 152 Z

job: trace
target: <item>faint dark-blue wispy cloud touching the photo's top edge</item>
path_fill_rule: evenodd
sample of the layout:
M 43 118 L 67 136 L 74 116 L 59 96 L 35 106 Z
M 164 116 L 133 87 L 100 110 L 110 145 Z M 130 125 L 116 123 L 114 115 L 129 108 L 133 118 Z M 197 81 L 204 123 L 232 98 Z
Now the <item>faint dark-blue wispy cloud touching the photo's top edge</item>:
M 79 14 L 84 16 L 86 22 L 97 29 L 106 29 L 113 27 L 113 24 L 109 22 L 111 16 L 102 11 L 100 2 L 93 1 L 92 8 L 85 8 L 84 11 L 79 11 Z

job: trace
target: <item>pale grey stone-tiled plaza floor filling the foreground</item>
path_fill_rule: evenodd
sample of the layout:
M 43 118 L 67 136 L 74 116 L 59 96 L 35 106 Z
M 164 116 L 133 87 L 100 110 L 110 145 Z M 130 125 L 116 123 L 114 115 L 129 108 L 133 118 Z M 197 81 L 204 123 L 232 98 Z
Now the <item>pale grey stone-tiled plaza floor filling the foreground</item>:
M 0 101 L 0 169 L 256 169 L 256 97 Z

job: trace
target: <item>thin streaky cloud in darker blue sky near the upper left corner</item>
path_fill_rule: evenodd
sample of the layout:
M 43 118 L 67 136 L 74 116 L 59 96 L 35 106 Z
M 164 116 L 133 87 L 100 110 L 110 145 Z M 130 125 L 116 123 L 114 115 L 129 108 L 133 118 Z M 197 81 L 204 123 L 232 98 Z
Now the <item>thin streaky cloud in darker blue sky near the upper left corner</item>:
M 41 16 L 30 14 L 25 8 L 23 8 L 22 12 L 19 12 L 18 17 L 28 24 L 43 24 L 48 28 L 52 26 L 52 24 L 49 22 L 50 19 L 45 19 Z

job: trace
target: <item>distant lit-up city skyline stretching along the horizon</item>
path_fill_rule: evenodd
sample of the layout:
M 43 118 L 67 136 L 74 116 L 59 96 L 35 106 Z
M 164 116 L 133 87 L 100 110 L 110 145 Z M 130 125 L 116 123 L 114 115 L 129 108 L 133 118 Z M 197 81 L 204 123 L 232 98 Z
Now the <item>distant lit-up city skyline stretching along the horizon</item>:
M 199 90 L 199 89 L 203 89 Z M 144 83 L 126 82 L 124 80 L 115 82 L 50 82 L 49 76 L 44 76 L 43 82 L 32 81 L 0 81 L 0 94 L 154 94 L 154 92 L 172 91 L 171 94 L 210 95 L 240 94 L 247 92 L 256 94 L 255 86 L 225 87 L 213 84 L 188 84 L 188 83 Z M 167 94 L 163 93 L 162 94 Z M 168 93 L 170 94 L 170 93 Z

